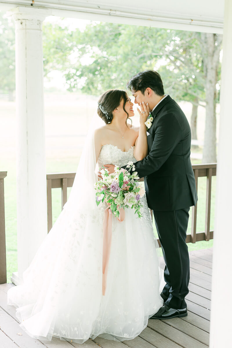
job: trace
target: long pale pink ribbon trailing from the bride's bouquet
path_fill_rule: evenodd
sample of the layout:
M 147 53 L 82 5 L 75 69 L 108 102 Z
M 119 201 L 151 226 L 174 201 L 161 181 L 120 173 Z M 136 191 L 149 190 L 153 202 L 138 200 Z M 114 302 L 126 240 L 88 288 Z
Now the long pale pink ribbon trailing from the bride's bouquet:
M 112 212 L 110 210 L 110 203 L 107 203 L 107 208 L 104 213 L 103 220 L 103 254 L 102 254 L 102 294 L 105 295 L 106 290 L 106 280 L 107 271 L 110 259 L 110 249 L 112 242 Z M 117 205 L 118 209 L 118 205 Z M 125 219 L 125 211 L 123 208 L 119 208 L 119 217 L 117 217 L 119 222 Z

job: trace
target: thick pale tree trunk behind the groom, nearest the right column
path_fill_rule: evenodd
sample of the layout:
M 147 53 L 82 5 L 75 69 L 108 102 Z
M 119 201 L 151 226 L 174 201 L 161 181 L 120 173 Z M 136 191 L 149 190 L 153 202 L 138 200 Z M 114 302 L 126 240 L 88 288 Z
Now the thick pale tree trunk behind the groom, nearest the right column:
M 216 83 L 222 35 L 202 33 L 203 64 L 206 69 L 206 124 L 202 163 L 215 163 L 216 157 Z M 215 45 L 217 42 L 217 45 Z

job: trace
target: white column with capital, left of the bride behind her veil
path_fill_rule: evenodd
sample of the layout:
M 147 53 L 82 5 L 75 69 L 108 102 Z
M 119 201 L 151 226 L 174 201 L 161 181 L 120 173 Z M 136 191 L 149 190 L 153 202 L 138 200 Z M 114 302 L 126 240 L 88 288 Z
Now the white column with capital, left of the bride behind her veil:
M 15 21 L 17 118 L 18 272 L 11 281 L 18 285 L 47 235 L 42 22 L 50 13 L 17 7 L 8 14 Z

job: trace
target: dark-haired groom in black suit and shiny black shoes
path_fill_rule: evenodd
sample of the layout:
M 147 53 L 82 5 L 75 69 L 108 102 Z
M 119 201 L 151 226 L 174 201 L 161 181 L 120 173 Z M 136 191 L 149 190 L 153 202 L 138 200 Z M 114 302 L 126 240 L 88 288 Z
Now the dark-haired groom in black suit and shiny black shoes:
M 189 209 L 198 199 L 190 161 L 191 130 L 179 105 L 164 94 L 158 72 L 139 72 L 127 87 L 135 103 L 148 103 L 153 117 L 147 132 L 149 153 L 135 163 L 138 176 L 144 177 L 147 204 L 153 210 L 166 264 L 166 285 L 161 292 L 164 304 L 152 318 L 184 317 L 190 278 L 186 230 Z M 113 165 L 106 167 L 110 173 L 114 171 Z

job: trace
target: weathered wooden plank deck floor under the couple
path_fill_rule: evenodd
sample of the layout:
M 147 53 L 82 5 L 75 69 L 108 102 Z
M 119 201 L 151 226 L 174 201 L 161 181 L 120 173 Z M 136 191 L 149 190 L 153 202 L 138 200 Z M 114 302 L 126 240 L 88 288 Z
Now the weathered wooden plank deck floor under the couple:
M 212 248 L 190 252 L 190 284 L 186 296 L 188 316 L 168 320 L 152 320 L 134 340 L 115 342 L 102 338 L 82 345 L 53 338 L 32 339 L 18 326 L 15 308 L 7 306 L 7 290 L 14 284 L 0 285 L 0 347 L 1 348 L 203 348 L 209 346 Z M 163 260 L 162 260 L 163 262 Z M 164 263 L 162 263 L 164 268 Z

